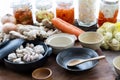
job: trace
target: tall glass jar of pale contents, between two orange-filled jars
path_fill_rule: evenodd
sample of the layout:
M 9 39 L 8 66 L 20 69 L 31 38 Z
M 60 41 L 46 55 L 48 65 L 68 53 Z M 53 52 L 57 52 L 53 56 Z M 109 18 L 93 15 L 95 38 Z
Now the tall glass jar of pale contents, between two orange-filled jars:
M 79 26 L 90 27 L 97 23 L 97 0 L 79 0 L 78 2 L 78 24 Z

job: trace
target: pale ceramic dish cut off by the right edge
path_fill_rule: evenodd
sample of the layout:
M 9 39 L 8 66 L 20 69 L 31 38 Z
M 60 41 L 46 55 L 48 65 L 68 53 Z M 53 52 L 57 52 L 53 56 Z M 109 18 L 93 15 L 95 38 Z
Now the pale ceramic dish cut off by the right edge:
M 113 59 L 113 66 L 118 75 L 120 75 L 120 56 Z

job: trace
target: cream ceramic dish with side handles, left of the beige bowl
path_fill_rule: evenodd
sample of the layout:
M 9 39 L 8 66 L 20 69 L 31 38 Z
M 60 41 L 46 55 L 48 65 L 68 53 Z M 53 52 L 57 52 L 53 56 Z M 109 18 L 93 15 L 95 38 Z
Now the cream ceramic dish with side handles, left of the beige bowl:
M 48 37 L 46 44 L 50 45 L 53 48 L 53 53 L 57 54 L 63 49 L 73 47 L 76 40 L 75 35 L 59 33 Z

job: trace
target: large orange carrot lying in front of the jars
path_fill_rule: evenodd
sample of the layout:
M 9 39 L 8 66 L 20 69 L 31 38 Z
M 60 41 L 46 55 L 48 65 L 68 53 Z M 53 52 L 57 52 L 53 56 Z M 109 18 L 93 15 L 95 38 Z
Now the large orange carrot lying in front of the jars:
M 72 24 L 70 24 L 70 23 L 68 23 L 60 18 L 53 18 L 52 23 L 57 29 L 61 30 L 62 32 L 74 34 L 77 37 L 81 33 L 85 32 L 85 31 L 81 30 L 80 28 L 78 28 L 78 27 L 76 27 L 76 26 L 74 26 L 74 25 L 72 25 Z

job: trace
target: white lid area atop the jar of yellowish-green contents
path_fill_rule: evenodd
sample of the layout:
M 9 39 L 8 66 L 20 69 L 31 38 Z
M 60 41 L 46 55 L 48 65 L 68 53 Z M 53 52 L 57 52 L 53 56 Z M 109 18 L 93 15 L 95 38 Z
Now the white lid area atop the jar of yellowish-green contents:
M 49 0 L 37 0 L 36 8 L 41 10 L 50 9 L 52 7 L 52 2 Z

